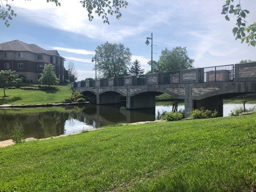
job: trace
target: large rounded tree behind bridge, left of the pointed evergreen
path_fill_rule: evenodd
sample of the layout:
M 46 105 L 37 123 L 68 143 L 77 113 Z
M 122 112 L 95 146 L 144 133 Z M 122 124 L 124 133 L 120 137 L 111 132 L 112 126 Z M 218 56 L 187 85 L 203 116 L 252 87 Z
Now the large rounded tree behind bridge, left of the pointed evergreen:
M 127 74 L 132 56 L 129 48 L 125 48 L 121 43 L 112 44 L 107 41 L 98 46 L 95 52 L 98 62 L 97 69 L 99 72 L 102 72 L 104 78 Z

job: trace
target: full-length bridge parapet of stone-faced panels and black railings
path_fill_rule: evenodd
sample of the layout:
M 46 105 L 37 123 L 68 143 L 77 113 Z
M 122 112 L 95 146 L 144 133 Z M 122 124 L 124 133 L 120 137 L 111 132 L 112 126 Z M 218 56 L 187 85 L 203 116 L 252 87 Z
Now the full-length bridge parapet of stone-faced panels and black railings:
M 232 82 L 256 79 L 256 62 L 204 67 L 171 72 L 159 72 L 126 77 L 116 77 L 97 80 L 97 86 L 130 86 L 153 84 L 187 84 L 187 83 L 211 83 Z M 236 71 L 235 71 L 236 70 Z M 248 73 L 248 74 L 247 74 Z M 96 81 L 74 82 L 76 87 L 95 87 Z

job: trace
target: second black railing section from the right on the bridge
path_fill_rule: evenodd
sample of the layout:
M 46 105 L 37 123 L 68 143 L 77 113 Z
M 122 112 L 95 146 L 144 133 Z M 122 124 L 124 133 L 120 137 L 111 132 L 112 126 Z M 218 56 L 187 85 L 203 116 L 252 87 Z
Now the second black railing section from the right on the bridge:
M 180 71 L 160 72 L 159 84 L 179 84 Z

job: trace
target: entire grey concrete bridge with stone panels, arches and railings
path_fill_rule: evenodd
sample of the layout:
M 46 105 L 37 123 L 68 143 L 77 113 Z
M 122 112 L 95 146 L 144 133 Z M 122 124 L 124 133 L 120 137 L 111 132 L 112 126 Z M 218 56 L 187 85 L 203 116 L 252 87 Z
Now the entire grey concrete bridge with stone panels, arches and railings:
M 125 96 L 127 109 L 155 108 L 155 96 L 166 93 L 184 100 L 185 117 L 201 107 L 223 116 L 223 98 L 256 92 L 256 62 L 80 81 L 72 89 L 98 105 Z

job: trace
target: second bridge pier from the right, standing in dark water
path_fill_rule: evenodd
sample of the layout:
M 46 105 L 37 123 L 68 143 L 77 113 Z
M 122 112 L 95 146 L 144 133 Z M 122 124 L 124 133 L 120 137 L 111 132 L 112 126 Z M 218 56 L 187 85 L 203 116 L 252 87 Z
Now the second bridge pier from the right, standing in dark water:
M 137 109 L 137 108 L 155 108 L 156 99 L 155 95 L 148 93 L 141 93 L 136 96 L 126 96 L 126 108 Z

